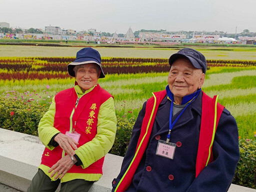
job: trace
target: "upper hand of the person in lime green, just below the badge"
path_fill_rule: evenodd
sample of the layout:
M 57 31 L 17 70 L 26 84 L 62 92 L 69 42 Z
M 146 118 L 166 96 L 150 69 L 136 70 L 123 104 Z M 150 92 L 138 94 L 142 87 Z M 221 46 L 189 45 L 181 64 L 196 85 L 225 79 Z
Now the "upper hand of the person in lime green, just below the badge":
M 58 133 L 55 136 L 54 140 L 65 151 L 65 153 L 69 154 L 70 156 L 73 156 L 75 154 L 74 149 L 77 149 L 76 145 L 79 144 L 70 136 L 67 136 L 63 133 Z

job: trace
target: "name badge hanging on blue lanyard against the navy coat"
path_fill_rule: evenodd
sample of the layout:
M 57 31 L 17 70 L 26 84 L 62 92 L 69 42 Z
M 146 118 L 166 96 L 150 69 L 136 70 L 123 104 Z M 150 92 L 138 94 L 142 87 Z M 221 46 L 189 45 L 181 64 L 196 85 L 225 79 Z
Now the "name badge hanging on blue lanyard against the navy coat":
M 166 158 L 173 159 L 176 144 L 172 142 L 166 143 L 165 140 L 158 140 L 155 154 Z

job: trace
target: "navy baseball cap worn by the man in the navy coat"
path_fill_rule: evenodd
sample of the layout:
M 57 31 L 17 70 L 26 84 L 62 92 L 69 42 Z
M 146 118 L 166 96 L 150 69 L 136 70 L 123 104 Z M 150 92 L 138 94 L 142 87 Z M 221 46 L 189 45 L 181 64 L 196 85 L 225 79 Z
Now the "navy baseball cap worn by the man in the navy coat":
M 174 53 L 169 58 L 170 66 L 179 57 L 187 58 L 195 68 L 201 68 L 203 73 L 206 73 L 207 62 L 205 57 L 199 51 L 192 48 L 182 48 L 177 53 Z

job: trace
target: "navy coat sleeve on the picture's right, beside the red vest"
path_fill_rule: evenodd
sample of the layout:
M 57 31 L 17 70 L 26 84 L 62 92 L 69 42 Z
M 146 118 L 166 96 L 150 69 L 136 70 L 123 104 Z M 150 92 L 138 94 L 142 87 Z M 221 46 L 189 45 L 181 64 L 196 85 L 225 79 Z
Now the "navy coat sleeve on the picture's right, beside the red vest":
M 227 191 L 239 160 L 238 130 L 234 117 L 223 110 L 212 146 L 214 160 L 194 179 L 187 192 Z

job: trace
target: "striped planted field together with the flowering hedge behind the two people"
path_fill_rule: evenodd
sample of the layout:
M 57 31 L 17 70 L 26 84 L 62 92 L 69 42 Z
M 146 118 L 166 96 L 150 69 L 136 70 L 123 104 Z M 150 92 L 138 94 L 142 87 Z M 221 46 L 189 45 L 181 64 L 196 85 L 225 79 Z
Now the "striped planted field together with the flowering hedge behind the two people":
M 37 135 L 53 96 L 72 87 L 66 65 L 74 57 L 0 57 L 0 127 Z M 202 89 L 235 117 L 240 160 L 234 184 L 256 188 L 256 60 L 207 60 Z M 151 92 L 167 85 L 168 59 L 103 57 L 100 86 L 115 100 L 117 133 L 110 153 L 125 154 L 131 129 Z

